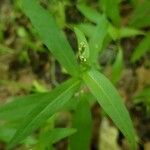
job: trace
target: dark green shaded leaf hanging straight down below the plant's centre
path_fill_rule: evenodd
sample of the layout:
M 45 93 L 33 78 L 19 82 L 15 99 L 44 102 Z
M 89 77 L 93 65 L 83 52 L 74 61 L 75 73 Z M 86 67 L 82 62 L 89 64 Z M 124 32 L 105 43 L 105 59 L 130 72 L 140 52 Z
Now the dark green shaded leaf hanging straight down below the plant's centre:
M 81 96 L 79 98 L 78 106 L 73 116 L 73 128 L 76 128 L 77 132 L 70 137 L 70 149 L 90 149 L 92 119 L 89 102 L 86 96 Z

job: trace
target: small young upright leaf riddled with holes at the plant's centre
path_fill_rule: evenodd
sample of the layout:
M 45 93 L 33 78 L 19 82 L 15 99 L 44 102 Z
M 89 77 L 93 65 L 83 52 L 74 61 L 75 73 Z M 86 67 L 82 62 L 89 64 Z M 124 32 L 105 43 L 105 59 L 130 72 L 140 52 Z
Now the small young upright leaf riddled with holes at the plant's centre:
M 79 58 L 81 61 L 86 61 L 89 58 L 89 45 L 84 33 L 78 28 L 74 28 L 74 32 L 78 41 Z

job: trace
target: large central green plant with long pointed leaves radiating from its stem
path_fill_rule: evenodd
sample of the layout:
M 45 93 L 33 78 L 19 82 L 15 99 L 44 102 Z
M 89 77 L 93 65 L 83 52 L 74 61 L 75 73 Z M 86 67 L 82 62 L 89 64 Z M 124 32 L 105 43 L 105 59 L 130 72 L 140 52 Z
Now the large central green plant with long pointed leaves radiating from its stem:
M 104 46 L 104 40 L 108 34 L 107 29 L 110 27 L 110 30 L 114 30 L 106 16 L 96 13 L 95 15 L 100 16 L 98 20 L 91 16 L 94 19 L 93 21 L 103 24 L 94 28 L 94 34 L 90 35 L 90 40 L 86 39 L 84 32 L 78 27 L 74 28 L 78 41 L 77 59 L 69 42 L 55 23 L 53 16 L 41 7 L 37 0 L 22 0 L 21 3 L 24 13 L 31 20 L 40 38 L 57 61 L 70 74 L 70 79 L 50 92 L 18 97 L 13 102 L 0 108 L 1 119 L 14 121 L 23 118 L 19 128 L 17 126 L 17 131 L 12 134 L 8 149 L 12 149 L 22 142 L 55 113 L 67 107 L 71 108 L 73 105 L 76 106 L 74 108 L 73 129 L 62 128 L 53 129 L 52 132 L 44 132 L 35 149 L 39 147 L 40 149 L 52 149 L 53 143 L 67 136 L 70 136 L 69 147 L 71 150 L 89 149 L 92 128 L 90 97 L 88 96 L 90 92 L 127 138 L 131 149 L 136 150 L 136 135 L 129 113 L 113 84 L 99 71 L 98 67 L 98 55 Z M 117 7 L 117 5 L 114 5 L 114 7 Z M 112 16 L 112 12 L 107 11 L 108 9 L 105 7 L 104 10 L 112 19 L 112 22 L 118 26 L 120 22 L 118 16 Z M 134 33 L 137 33 L 137 31 Z M 116 35 L 115 39 L 117 38 Z M 118 59 L 120 59 L 120 55 L 122 54 L 119 51 Z M 49 139 L 48 142 L 46 139 Z

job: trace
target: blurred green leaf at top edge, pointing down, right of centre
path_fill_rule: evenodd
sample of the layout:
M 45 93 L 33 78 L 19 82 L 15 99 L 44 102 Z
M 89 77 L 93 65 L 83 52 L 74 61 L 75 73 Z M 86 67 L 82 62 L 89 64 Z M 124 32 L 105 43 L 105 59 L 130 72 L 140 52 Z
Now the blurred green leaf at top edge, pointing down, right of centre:
M 119 26 L 121 21 L 119 9 L 120 0 L 101 0 L 100 4 L 102 5 L 105 14 L 111 19 L 112 23 L 115 26 Z

